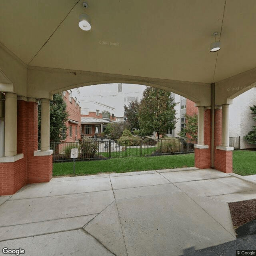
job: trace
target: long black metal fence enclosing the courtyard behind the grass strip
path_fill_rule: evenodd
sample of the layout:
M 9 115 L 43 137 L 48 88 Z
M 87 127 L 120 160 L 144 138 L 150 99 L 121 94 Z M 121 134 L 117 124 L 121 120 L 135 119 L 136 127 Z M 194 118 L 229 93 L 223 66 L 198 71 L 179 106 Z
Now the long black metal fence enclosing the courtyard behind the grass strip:
M 53 162 L 68 162 L 71 148 L 78 148 L 76 161 L 103 160 L 108 158 L 129 156 L 157 156 L 170 154 L 186 154 L 194 152 L 196 139 L 134 139 L 117 142 L 109 139 L 98 139 L 85 142 L 53 142 L 50 148 L 54 150 Z

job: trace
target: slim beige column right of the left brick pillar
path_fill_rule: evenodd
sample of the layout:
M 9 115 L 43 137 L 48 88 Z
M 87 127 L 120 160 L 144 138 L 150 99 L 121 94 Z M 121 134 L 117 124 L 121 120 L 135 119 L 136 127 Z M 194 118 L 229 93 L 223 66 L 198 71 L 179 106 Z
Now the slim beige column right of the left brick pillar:
M 50 101 L 41 99 L 41 151 L 50 150 Z

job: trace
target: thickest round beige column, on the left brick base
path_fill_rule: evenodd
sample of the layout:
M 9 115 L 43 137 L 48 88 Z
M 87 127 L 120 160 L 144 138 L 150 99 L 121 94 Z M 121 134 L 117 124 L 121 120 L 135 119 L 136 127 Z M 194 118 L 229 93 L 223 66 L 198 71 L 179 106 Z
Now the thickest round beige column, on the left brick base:
M 4 155 L 17 154 L 17 94 L 5 94 Z

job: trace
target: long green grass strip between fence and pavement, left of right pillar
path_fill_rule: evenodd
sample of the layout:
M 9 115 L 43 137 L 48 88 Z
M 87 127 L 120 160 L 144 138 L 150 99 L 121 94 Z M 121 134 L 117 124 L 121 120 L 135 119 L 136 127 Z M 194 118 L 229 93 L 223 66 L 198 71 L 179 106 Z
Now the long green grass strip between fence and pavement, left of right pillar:
M 76 175 L 101 172 L 135 172 L 194 166 L 194 154 L 112 158 L 98 161 L 76 162 Z M 53 164 L 53 176 L 73 174 L 73 162 Z

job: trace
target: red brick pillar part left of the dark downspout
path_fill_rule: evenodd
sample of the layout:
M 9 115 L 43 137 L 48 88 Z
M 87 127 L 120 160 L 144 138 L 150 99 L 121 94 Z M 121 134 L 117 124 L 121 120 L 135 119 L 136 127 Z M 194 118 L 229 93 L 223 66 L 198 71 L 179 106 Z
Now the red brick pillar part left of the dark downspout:
M 195 167 L 199 169 L 211 168 L 211 110 L 204 110 L 204 146 L 195 147 Z

